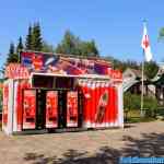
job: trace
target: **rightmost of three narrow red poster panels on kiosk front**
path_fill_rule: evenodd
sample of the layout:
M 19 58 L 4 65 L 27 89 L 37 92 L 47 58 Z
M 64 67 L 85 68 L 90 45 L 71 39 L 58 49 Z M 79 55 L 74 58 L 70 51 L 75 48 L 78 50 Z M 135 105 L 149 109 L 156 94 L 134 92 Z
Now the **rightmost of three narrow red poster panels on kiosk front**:
M 67 93 L 67 127 L 78 127 L 78 92 Z

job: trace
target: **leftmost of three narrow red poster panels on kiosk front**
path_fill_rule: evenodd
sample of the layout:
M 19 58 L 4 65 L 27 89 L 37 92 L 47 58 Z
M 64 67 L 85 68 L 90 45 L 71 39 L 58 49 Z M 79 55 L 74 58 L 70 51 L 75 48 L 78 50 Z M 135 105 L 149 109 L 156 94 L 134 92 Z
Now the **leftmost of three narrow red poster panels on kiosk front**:
M 23 129 L 35 129 L 36 91 L 24 90 L 23 94 Z

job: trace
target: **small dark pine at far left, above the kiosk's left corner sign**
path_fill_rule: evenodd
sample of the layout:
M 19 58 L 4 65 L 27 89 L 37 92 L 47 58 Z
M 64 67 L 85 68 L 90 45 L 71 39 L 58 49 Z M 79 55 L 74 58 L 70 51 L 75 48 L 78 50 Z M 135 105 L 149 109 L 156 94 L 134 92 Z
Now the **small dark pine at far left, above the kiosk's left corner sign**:
M 14 47 L 13 43 L 10 44 L 5 65 L 8 65 L 10 62 L 19 62 L 19 55 L 15 52 L 15 47 Z

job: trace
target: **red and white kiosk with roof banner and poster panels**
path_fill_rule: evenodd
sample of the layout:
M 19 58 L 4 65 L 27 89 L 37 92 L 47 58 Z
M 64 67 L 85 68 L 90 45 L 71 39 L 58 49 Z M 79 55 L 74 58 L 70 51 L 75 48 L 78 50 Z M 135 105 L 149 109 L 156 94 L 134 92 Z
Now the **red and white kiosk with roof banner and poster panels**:
M 5 68 L 2 129 L 124 127 L 122 74 L 99 58 L 21 51 Z

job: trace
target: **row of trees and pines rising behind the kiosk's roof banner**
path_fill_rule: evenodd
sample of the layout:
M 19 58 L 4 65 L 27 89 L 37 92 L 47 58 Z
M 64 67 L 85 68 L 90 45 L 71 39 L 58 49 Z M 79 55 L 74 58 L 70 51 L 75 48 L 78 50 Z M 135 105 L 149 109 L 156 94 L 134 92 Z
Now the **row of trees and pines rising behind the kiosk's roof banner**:
M 19 51 L 22 49 L 90 57 L 97 57 L 99 54 L 94 40 L 81 40 L 70 31 L 66 31 L 61 43 L 55 48 L 43 38 L 39 23 L 28 26 L 25 43 L 20 37 L 16 48 L 13 43 L 10 45 L 7 63 L 19 62 Z

